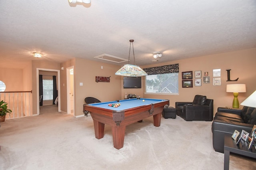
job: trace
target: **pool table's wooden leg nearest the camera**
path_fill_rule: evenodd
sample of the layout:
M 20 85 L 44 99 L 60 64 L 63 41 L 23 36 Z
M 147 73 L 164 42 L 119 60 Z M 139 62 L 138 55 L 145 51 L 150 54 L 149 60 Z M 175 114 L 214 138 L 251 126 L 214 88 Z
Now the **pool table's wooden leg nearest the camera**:
M 112 126 L 112 136 L 114 148 L 121 149 L 124 147 L 125 126 Z

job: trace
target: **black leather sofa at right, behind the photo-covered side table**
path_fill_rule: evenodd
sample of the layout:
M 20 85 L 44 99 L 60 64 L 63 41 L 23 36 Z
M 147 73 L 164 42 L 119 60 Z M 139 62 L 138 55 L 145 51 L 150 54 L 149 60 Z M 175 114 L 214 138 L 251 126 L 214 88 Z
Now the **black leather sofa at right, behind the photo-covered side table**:
M 251 133 L 256 125 L 256 108 L 244 106 L 242 110 L 218 107 L 212 122 L 212 145 L 215 151 L 224 153 L 224 136 L 240 133 L 242 130 Z

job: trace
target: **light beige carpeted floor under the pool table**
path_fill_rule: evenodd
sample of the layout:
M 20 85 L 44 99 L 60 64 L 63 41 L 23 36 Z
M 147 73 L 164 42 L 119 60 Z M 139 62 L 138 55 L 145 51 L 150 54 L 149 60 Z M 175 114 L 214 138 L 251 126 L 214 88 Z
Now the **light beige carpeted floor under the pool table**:
M 0 127 L 0 170 L 220 170 L 224 154 L 212 148 L 208 121 L 153 117 L 126 127 L 124 147 L 113 147 L 111 127 L 96 139 L 93 120 L 42 106 L 40 115 Z M 256 160 L 230 156 L 230 170 L 256 169 Z

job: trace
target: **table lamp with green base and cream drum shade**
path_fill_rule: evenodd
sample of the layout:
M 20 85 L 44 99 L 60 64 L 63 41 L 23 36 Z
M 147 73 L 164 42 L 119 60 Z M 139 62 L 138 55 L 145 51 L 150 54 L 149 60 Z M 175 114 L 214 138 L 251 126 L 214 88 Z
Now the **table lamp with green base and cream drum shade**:
M 226 92 L 232 92 L 234 95 L 233 108 L 239 108 L 238 93 L 246 92 L 245 84 L 227 84 Z

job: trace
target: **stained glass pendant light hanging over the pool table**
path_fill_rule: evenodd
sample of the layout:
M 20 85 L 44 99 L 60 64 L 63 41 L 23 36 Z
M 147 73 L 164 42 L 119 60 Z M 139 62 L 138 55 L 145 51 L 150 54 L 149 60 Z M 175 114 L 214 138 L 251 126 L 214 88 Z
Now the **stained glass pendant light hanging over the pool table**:
M 129 50 L 129 59 L 128 64 L 125 64 L 122 68 L 120 68 L 116 75 L 119 76 L 130 76 L 130 77 L 140 77 L 140 76 L 146 76 L 148 75 L 144 70 L 140 68 L 140 66 L 135 65 L 135 56 L 134 56 L 134 48 L 133 48 L 133 39 L 130 39 L 130 50 Z M 131 44 L 132 44 L 132 51 L 133 51 L 133 57 L 134 57 L 134 65 L 129 64 L 130 61 L 130 51 L 131 51 Z

